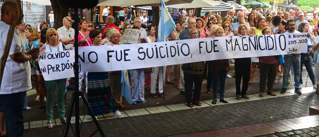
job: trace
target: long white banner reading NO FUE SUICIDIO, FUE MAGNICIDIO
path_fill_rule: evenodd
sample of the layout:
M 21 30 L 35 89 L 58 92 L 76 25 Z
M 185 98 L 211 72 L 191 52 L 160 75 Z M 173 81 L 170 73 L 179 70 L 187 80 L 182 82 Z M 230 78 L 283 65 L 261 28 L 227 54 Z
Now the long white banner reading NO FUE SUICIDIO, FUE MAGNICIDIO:
M 306 53 L 307 46 L 307 33 L 293 33 L 251 37 L 234 36 L 233 38 L 200 38 L 115 46 L 88 46 L 79 47 L 78 54 L 80 71 L 99 72 L 219 59 Z M 71 54 L 74 50 L 69 52 Z M 68 57 L 68 60 L 71 60 L 70 58 L 72 57 Z M 67 63 L 66 60 L 52 62 L 53 60 L 47 59 L 42 61 L 51 61 L 48 64 L 52 65 Z M 40 65 L 40 67 L 43 66 Z M 64 74 L 50 73 L 49 75 Z

